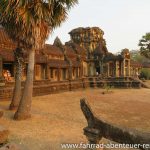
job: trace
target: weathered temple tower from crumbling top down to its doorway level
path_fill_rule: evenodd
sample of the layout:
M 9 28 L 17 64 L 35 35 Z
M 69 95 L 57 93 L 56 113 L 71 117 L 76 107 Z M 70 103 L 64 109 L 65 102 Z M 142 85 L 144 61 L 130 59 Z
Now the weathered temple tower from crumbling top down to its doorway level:
M 88 75 L 94 76 L 97 71 L 100 73 L 100 68 L 103 70 L 100 61 L 108 52 L 103 38 L 104 32 L 99 27 L 80 27 L 73 29 L 69 34 L 72 42 L 80 45 L 87 51 Z M 98 61 L 97 67 L 96 61 Z

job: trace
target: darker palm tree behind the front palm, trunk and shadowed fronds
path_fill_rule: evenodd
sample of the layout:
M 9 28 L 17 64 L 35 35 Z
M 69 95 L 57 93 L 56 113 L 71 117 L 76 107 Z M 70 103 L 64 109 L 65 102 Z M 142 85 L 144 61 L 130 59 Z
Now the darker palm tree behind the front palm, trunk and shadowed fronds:
M 0 11 L 2 8 L 0 7 Z M 2 11 L 3 12 L 3 11 Z M 24 63 L 24 52 L 23 52 L 23 45 L 21 45 L 21 41 L 18 38 L 18 28 L 12 28 L 12 22 L 7 23 L 8 18 L 3 18 L 3 13 L 0 13 L 0 24 L 4 27 L 5 32 L 9 35 L 9 37 L 16 43 L 16 49 L 14 50 L 14 59 L 15 59 L 15 86 L 13 90 L 13 96 L 11 100 L 11 104 L 9 106 L 10 110 L 15 110 L 19 106 L 20 97 L 21 97 L 21 78 L 22 78 L 22 69 Z M 8 16 L 7 16 L 8 17 Z M 14 21 L 14 19 L 12 19 Z

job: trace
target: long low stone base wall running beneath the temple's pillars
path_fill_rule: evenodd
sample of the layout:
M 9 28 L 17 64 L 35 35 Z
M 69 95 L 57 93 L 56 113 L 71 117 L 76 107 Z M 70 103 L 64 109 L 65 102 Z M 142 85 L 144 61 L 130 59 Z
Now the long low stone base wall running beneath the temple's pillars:
M 22 82 L 22 86 L 24 82 Z M 0 100 L 11 100 L 13 92 L 13 82 L 8 82 L 5 86 L 0 86 Z M 138 81 L 129 80 L 126 78 L 105 79 L 100 80 L 98 77 L 82 78 L 78 80 L 66 81 L 50 81 L 39 80 L 34 81 L 33 96 L 41 96 L 52 93 L 72 91 L 76 89 L 85 88 L 105 88 L 106 86 L 113 86 L 116 88 L 140 88 L 141 83 Z

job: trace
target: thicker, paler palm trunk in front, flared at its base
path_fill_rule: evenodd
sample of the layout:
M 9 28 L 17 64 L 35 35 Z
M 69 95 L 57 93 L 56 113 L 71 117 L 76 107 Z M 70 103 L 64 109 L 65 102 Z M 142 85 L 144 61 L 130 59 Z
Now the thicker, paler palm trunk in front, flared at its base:
M 14 115 L 15 120 L 25 120 L 31 117 L 31 103 L 32 103 L 32 92 L 33 92 L 33 75 L 34 75 L 34 57 L 35 50 L 29 51 L 29 63 L 27 79 L 25 87 L 20 100 L 20 104 L 17 112 Z

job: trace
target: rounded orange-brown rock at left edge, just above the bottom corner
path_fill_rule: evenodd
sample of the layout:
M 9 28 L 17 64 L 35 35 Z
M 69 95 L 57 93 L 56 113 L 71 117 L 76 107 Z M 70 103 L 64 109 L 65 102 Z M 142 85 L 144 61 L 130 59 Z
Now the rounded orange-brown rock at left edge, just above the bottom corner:
M 0 144 L 3 144 L 7 141 L 8 135 L 9 131 L 3 126 L 0 126 Z

